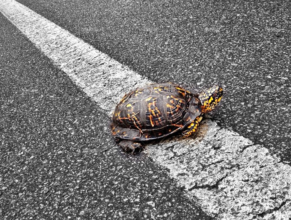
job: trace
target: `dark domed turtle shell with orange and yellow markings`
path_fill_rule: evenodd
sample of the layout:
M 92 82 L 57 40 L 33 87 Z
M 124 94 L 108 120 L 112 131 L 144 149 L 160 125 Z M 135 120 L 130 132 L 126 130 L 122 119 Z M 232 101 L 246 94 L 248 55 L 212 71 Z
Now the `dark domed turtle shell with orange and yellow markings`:
M 112 134 L 148 141 L 188 126 L 201 113 L 197 94 L 172 84 L 152 84 L 127 93 L 112 116 Z

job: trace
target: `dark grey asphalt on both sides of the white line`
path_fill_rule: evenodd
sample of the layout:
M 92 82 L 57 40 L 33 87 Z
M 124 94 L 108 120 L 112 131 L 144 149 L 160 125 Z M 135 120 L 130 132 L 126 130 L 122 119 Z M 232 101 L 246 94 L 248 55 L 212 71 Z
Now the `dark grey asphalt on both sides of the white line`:
M 152 81 L 222 83 L 213 119 L 289 163 L 287 3 L 19 2 Z M 150 158 L 123 154 L 108 116 L 3 16 L 1 32 L 0 214 L 210 218 Z

